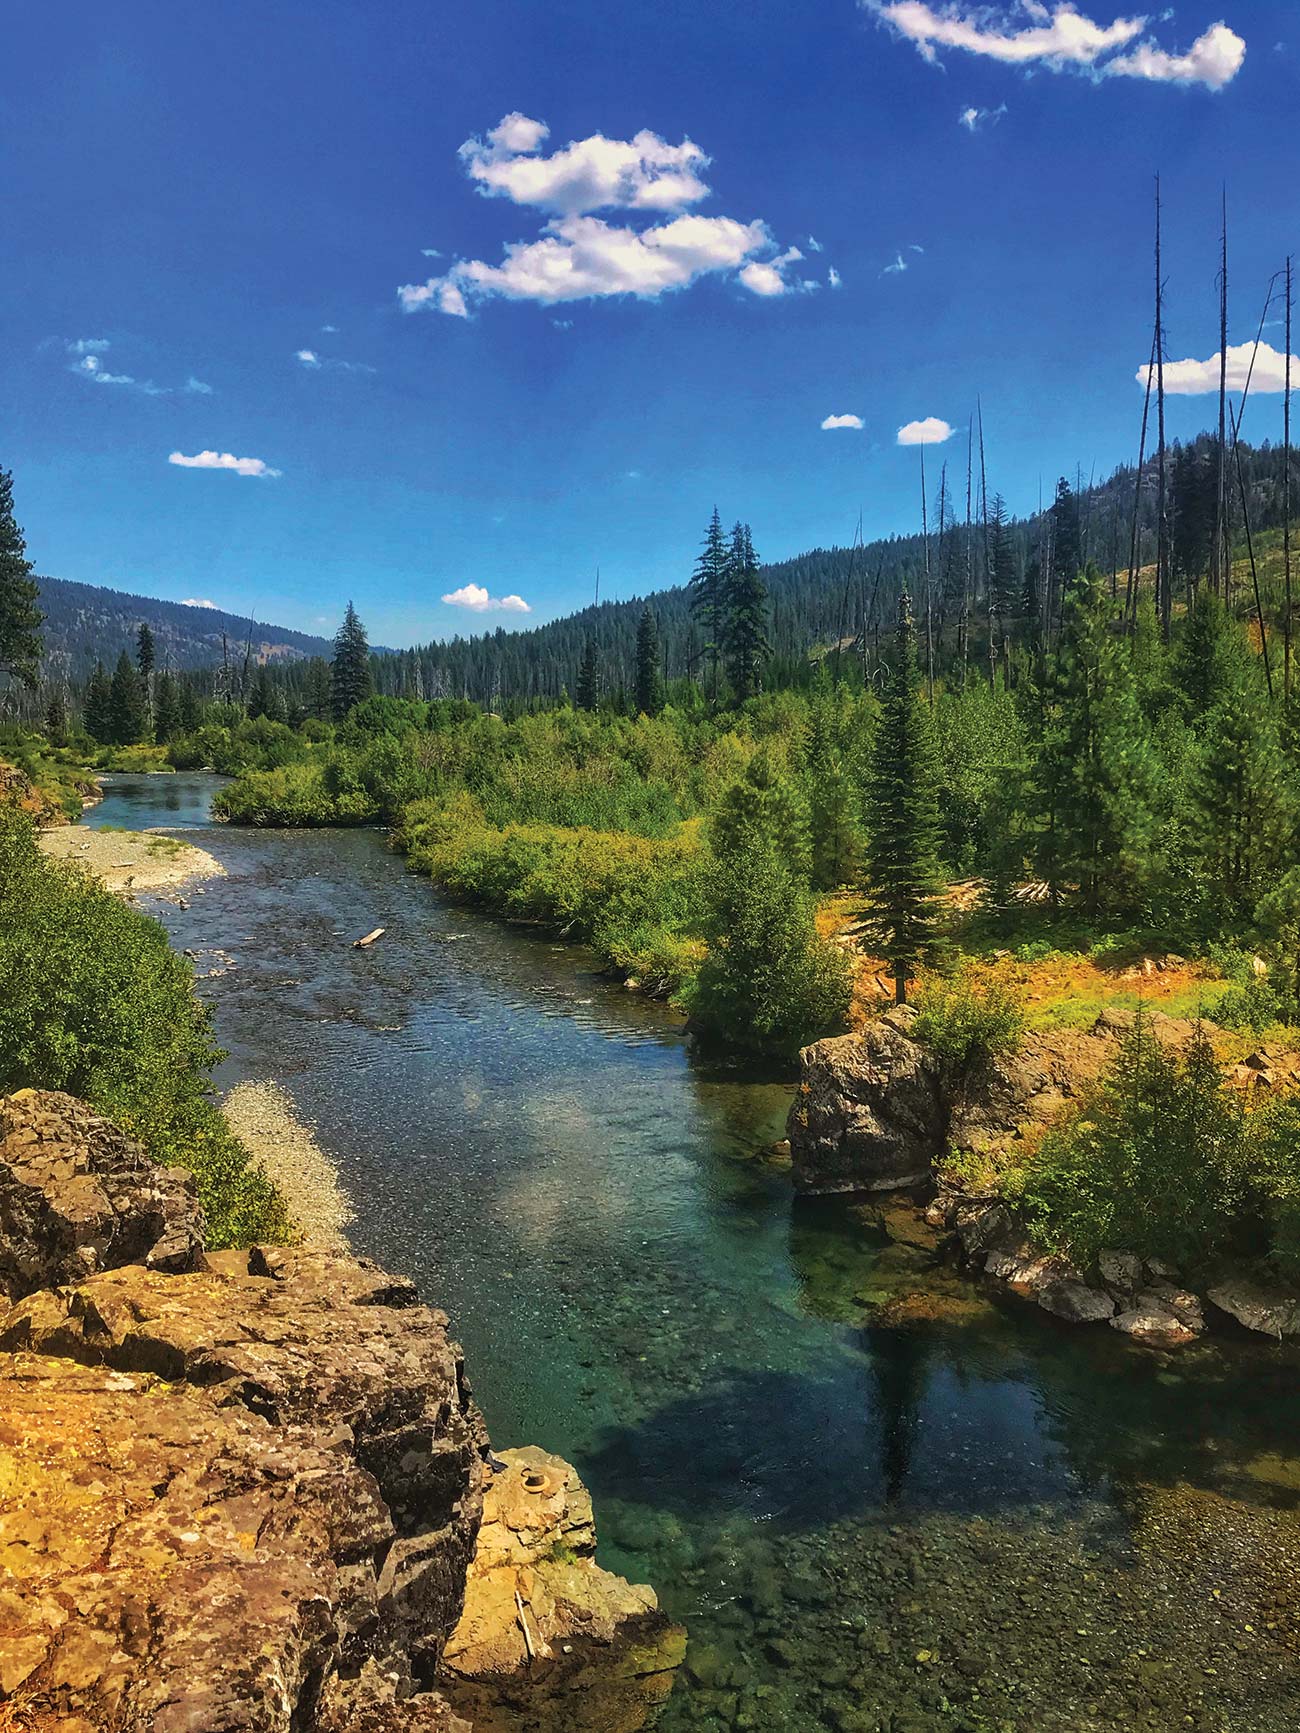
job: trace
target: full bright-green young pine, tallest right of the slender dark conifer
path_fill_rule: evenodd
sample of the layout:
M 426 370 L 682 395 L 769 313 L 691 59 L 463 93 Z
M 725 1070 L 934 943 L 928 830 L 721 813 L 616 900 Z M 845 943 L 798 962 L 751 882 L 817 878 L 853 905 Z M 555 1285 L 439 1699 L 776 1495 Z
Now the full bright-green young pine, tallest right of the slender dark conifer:
M 1154 841 L 1156 764 L 1095 567 L 1066 589 L 1037 780 L 1038 865 L 1052 901 L 1078 887 L 1094 913 L 1135 906 Z

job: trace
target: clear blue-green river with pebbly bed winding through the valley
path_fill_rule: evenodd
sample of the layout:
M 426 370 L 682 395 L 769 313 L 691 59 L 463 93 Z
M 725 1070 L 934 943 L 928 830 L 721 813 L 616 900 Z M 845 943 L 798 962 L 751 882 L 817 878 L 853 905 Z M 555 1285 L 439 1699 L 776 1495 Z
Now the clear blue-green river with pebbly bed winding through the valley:
M 116 778 L 90 821 L 198 823 L 211 787 Z M 601 1561 L 686 1624 L 660 1728 L 1300 1726 L 1293 1350 L 1167 1360 L 986 1296 L 903 1206 L 794 1201 L 789 1078 L 381 835 L 194 841 L 229 877 L 156 913 L 220 1081 L 291 1094 L 492 1438 L 575 1463 Z

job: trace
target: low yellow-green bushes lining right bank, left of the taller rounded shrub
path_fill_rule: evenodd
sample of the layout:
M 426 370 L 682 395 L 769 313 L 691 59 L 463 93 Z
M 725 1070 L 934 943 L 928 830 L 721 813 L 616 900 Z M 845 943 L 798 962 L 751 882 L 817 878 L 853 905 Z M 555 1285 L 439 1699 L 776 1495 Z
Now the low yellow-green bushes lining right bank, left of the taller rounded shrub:
M 589 941 L 605 962 L 645 986 L 674 991 L 700 946 L 699 839 L 504 825 L 470 794 L 416 801 L 395 835 L 411 866 L 458 896 L 515 920 L 537 920 Z

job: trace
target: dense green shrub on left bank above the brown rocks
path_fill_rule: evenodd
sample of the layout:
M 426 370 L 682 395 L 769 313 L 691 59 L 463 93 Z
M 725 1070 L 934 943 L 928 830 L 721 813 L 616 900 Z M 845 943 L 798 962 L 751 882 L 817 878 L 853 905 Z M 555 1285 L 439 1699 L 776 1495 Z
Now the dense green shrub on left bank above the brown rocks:
M 222 1057 L 189 964 L 156 920 L 0 811 L 0 1092 L 59 1088 L 199 1184 L 213 1246 L 281 1241 L 284 1204 L 217 1107 Z

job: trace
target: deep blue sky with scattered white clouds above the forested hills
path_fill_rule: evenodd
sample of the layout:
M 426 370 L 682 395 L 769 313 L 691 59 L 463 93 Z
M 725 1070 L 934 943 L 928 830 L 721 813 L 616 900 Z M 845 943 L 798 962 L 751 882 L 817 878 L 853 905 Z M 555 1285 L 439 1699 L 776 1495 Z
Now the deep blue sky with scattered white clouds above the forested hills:
M 1291 3 L 73 0 L 7 66 L 38 570 L 385 643 L 678 582 L 714 501 L 764 558 L 908 530 L 898 430 L 964 471 L 976 393 L 1028 510 L 1135 454 L 1158 168 L 1172 360 L 1224 177 L 1232 343 L 1300 244 Z

